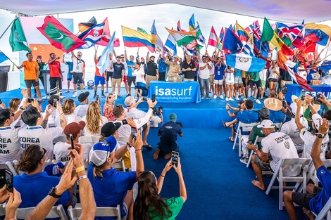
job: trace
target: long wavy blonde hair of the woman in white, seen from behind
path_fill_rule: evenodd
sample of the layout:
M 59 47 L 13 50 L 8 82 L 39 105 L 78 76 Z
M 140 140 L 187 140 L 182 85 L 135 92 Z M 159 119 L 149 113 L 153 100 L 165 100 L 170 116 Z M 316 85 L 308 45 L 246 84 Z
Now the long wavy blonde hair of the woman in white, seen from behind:
M 91 134 L 99 134 L 101 130 L 102 115 L 100 105 L 92 101 L 86 113 L 86 129 Z

